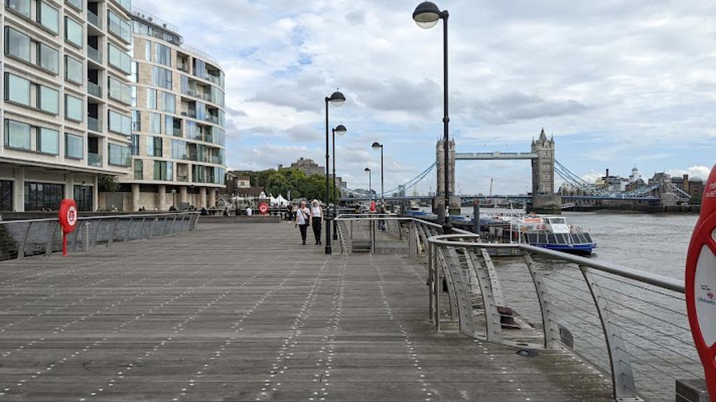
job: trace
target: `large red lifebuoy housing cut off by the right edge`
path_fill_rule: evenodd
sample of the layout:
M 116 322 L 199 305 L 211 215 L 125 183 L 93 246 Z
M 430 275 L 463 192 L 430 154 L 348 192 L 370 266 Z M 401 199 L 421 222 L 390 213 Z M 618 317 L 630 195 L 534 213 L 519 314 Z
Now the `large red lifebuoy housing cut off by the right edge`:
M 716 166 L 701 201 L 701 216 L 686 260 L 686 308 L 710 395 L 716 396 Z

